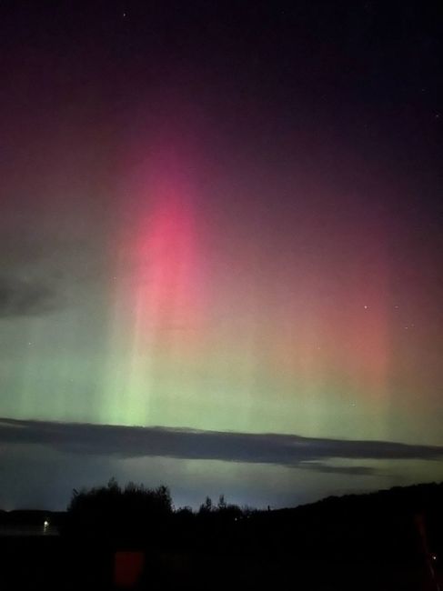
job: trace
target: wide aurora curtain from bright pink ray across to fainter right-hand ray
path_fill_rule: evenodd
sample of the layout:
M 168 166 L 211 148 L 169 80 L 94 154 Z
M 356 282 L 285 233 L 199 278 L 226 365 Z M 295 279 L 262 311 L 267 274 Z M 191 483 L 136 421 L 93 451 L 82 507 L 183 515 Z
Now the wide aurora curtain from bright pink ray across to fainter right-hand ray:
M 394 302 L 383 228 L 368 219 L 349 233 L 339 215 L 305 214 L 311 251 L 284 248 L 272 217 L 267 242 L 247 215 L 232 227 L 205 207 L 197 216 L 176 168 L 160 162 L 136 178 L 122 215 L 103 420 L 388 437 Z M 342 231 L 333 243 L 327 224 Z

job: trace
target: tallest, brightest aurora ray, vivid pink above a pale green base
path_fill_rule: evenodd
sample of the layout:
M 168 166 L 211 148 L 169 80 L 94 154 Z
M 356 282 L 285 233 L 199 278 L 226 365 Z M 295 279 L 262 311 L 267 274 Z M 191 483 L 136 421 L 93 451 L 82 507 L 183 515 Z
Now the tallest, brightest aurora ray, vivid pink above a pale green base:
M 123 358 L 111 386 L 116 423 L 149 425 L 174 407 L 201 319 L 193 195 L 175 168 L 157 165 L 154 180 L 132 185 L 136 215 L 124 217 L 111 355 Z

